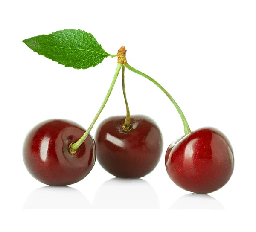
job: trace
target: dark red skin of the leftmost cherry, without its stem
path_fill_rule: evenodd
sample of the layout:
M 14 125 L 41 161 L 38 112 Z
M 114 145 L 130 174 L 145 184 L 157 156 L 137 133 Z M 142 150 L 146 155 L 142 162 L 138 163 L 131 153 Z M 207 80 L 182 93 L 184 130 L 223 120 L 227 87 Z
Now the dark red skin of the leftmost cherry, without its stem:
M 84 133 L 80 125 L 62 119 L 36 125 L 23 145 L 23 160 L 29 173 L 51 186 L 66 186 L 82 180 L 96 160 L 94 139 L 89 135 L 73 155 L 69 145 Z

